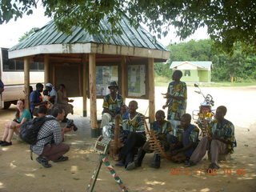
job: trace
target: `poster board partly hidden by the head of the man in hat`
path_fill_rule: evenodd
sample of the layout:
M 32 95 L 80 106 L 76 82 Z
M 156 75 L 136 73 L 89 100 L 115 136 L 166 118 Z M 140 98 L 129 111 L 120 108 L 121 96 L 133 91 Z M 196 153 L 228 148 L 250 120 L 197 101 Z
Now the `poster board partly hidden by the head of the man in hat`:
M 118 66 L 96 66 L 96 92 L 97 96 L 110 94 L 110 82 L 118 83 Z

